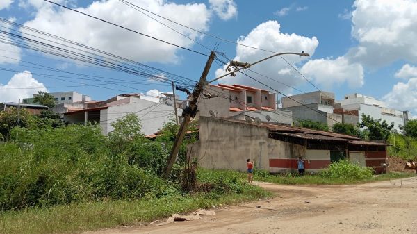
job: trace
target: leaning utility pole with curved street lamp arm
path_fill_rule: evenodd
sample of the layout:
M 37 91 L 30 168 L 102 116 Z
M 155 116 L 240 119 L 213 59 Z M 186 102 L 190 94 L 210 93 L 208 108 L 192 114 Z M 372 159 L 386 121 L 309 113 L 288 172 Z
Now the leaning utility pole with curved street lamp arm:
M 204 67 L 202 76 L 200 77 L 197 85 L 195 85 L 193 93 L 189 97 L 189 104 L 183 110 L 183 122 L 179 127 L 179 131 L 177 133 L 177 137 L 175 137 L 174 145 L 172 146 L 170 156 L 168 157 L 167 165 L 163 169 L 162 177 L 167 179 L 170 177 L 172 166 L 174 166 L 174 162 L 177 159 L 177 154 L 179 151 L 179 147 L 183 141 L 184 135 L 186 134 L 186 129 L 188 127 L 188 123 L 190 122 L 191 117 L 195 117 L 197 113 L 197 101 L 206 85 L 206 78 L 208 71 L 210 71 L 211 64 L 215 58 L 214 51 L 211 51 L 210 56 L 206 62 L 206 67 Z

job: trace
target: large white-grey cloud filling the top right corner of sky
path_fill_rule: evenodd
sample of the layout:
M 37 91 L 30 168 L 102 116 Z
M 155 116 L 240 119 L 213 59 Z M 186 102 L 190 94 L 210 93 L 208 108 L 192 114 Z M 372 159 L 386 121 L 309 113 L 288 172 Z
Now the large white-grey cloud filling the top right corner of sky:
M 352 23 L 359 46 L 350 50 L 350 58 L 373 67 L 417 62 L 417 1 L 357 0 Z

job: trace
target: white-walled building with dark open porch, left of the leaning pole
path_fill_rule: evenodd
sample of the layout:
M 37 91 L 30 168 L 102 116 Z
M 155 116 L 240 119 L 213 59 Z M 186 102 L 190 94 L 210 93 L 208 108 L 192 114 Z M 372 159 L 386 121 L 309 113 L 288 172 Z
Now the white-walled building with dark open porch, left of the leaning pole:
M 174 108 L 165 103 L 153 102 L 136 97 L 135 95 L 119 95 L 105 101 L 102 106 L 86 108 L 67 112 L 64 121 L 74 124 L 87 124 L 97 122 L 101 126 L 101 132 L 105 135 L 113 131 L 111 124 L 129 113 L 134 113 L 140 118 L 142 132 L 152 135 L 170 121 Z M 181 110 L 179 110 L 181 115 Z

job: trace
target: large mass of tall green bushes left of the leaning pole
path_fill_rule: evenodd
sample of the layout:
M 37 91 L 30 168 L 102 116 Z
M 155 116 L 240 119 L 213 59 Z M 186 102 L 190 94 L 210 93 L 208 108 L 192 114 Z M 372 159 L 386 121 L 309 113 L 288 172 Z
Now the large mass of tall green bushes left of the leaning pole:
M 160 197 L 168 186 L 149 170 L 112 155 L 97 126 L 28 130 L 0 144 L 0 210 L 73 201 Z

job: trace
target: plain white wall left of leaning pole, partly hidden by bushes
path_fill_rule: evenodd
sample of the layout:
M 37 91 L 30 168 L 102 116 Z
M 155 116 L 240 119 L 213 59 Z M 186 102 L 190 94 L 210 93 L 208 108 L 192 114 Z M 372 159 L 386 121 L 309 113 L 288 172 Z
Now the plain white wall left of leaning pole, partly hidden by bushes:
M 109 106 L 107 111 L 101 110 L 100 112 L 102 132 L 108 134 L 113 131 L 111 123 L 129 113 L 135 113 L 139 117 L 142 123 L 142 132 L 145 135 L 152 135 L 161 129 L 165 122 L 170 121 L 169 115 L 174 113 L 174 108 L 163 103 L 154 103 L 143 99 L 117 106 Z M 181 110 L 179 110 L 179 115 L 181 115 Z

